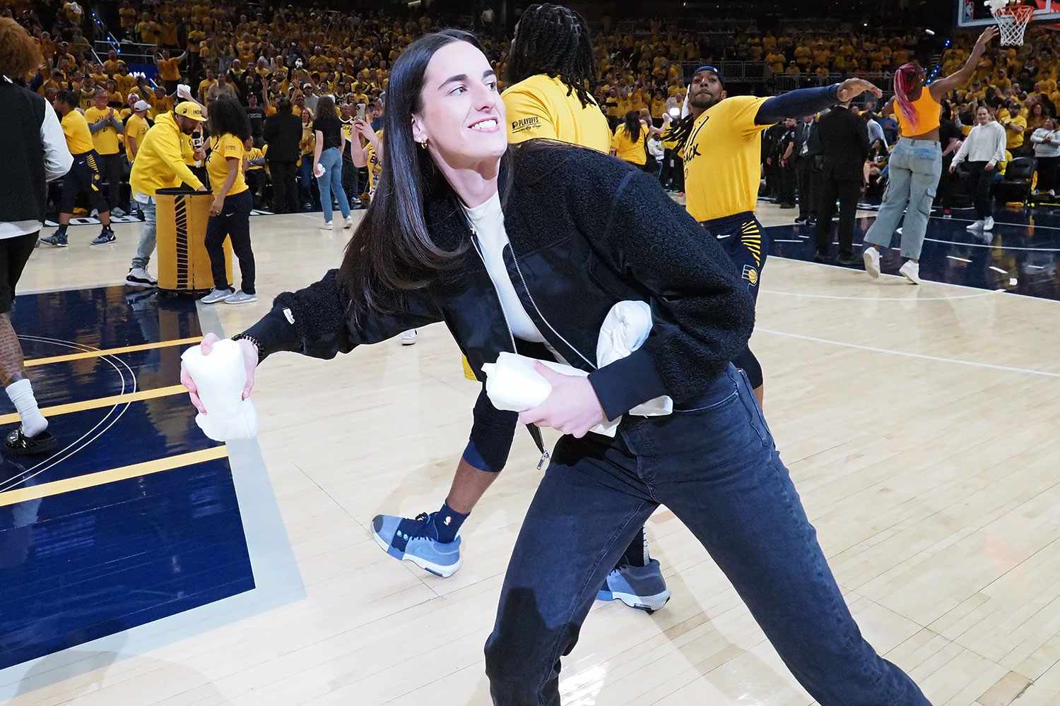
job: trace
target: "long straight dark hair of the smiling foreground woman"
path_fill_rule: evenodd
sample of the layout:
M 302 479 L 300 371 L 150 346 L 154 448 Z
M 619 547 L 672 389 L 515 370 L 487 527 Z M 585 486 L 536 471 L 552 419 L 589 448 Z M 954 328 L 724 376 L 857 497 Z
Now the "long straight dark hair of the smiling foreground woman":
M 409 44 L 390 70 L 379 183 L 338 272 L 339 285 L 350 294 L 354 321 L 371 311 L 393 310 L 400 306 L 403 292 L 427 286 L 459 261 L 470 247 L 463 242 L 455 250 L 444 250 L 427 231 L 424 203 L 436 185 L 444 187 L 444 180 L 427 150 L 416 144 L 410 120 L 423 108 L 427 64 L 435 52 L 456 41 L 482 49 L 473 34 L 442 30 Z

